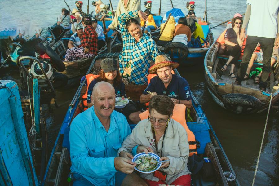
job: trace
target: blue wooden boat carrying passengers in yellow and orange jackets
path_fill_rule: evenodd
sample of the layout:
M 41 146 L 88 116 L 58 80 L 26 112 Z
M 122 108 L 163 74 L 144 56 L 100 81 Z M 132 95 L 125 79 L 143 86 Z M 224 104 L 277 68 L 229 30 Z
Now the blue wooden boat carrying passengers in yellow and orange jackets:
M 170 42 L 165 47 L 158 47 L 161 52 L 170 56 L 171 60 L 182 65 L 195 65 L 198 60 L 203 59 L 206 52 L 214 42 L 212 31 L 209 25 L 201 25 L 208 47 L 204 48 L 188 48 L 185 44 L 180 42 Z

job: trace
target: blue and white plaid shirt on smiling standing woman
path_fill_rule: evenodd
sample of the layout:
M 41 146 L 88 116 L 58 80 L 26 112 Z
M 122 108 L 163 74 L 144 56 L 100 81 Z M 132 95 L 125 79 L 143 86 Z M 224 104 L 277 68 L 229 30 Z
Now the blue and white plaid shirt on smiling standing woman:
M 147 84 L 148 69 L 150 62 L 155 61 L 158 50 L 152 38 L 143 33 L 140 41 L 136 43 L 135 38 L 126 29 L 126 20 L 137 17 L 138 11 L 130 11 L 119 15 L 118 21 L 123 35 L 123 51 L 119 55 L 119 69 L 123 74 L 126 64 L 131 60 L 131 82 L 140 85 Z

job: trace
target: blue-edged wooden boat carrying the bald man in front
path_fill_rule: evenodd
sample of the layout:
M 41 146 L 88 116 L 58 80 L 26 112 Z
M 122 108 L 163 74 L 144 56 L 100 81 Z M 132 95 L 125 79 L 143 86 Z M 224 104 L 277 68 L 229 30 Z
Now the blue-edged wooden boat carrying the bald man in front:
M 107 57 L 118 60 L 119 54 L 108 53 L 96 56 L 86 74 L 96 73 L 97 69 L 100 67 L 101 60 Z M 177 70 L 175 70 L 175 72 L 179 75 Z M 84 82 L 82 82 L 79 86 L 78 91 L 73 97 L 73 100 L 68 108 L 59 134 L 56 138 L 55 146 L 51 152 L 42 185 L 69 185 L 69 183 L 67 183 L 67 175 L 70 172 L 69 168 L 71 166 L 69 154 L 69 127 L 73 121 L 73 118 L 83 111 L 82 100 L 79 100 L 83 84 Z M 146 87 L 147 85 L 127 85 L 125 86 L 126 95 L 130 97 L 131 100 L 137 101 Z M 202 183 L 202 185 L 227 186 L 228 183 L 224 177 L 223 172 L 229 171 L 234 175 L 235 173 L 207 118 L 205 117 L 204 121 L 201 123 L 197 122 L 196 114 L 203 113 L 203 111 L 194 96 L 192 103 L 193 106 L 190 110 L 193 122 L 187 122 L 187 125 L 189 129 L 195 134 L 196 139 L 200 141 L 201 147 L 197 149 L 198 154 L 201 157 L 210 158 L 214 167 L 214 175 L 216 176 L 215 181 L 206 182 L 205 180 L 201 179 L 201 175 L 198 175 L 197 179 L 194 180 L 194 185 L 201 185 Z M 130 126 L 133 128 L 135 125 Z M 239 185 L 237 179 L 235 184 Z

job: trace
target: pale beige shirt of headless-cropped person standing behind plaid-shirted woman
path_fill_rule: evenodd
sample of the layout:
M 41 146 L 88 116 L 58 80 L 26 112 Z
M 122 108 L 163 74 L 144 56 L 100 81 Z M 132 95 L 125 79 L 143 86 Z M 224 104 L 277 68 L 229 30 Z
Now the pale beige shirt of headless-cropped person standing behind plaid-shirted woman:
M 119 0 L 117 8 L 115 11 L 115 16 L 113 18 L 112 23 L 108 26 L 108 28 L 114 30 L 116 29 L 118 22 L 118 16 L 133 10 L 140 10 L 140 0 L 128 0 L 127 7 L 125 8 L 124 0 Z M 140 23 L 140 18 L 136 18 Z

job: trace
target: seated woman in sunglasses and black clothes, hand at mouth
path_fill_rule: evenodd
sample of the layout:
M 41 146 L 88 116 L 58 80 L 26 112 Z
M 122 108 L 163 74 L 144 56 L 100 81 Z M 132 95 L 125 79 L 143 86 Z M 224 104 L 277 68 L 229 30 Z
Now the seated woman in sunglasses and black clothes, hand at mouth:
M 221 70 L 225 72 L 228 65 L 231 63 L 229 76 L 232 79 L 236 79 L 236 76 L 234 75 L 234 67 L 238 64 L 238 58 L 240 57 L 242 50 L 243 41 L 239 38 L 241 24 L 241 17 L 233 18 L 232 28 L 227 29 L 227 32 L 225 33 L 225 46 L 228 47 L 227 55 L 229 55 L 229 58 Z

